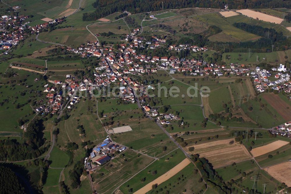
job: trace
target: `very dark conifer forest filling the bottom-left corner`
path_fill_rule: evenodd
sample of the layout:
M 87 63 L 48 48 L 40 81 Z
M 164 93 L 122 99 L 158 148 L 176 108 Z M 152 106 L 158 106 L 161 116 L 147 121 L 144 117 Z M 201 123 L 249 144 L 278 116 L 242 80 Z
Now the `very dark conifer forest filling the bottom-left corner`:
M 16 174 L 3 165 L 0 165 L 0 183 L 1 193 L 26 193 Z

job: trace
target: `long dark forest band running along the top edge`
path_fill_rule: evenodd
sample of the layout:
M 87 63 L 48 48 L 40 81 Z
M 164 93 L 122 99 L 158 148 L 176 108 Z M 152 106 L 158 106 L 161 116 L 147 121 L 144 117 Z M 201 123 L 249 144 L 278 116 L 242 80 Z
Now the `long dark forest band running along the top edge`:
M 223 9 L 225 4 L 228 4 L 229 9 L 279 7 L 291 8 L 291 1 L 285 0 L 96 0 L 92 4 L 96 10 L 92 13 L 84 13 L 83 21 L 97 20 L 117 11 L 129 11 L 133 14 L 159 11 L 162 10 L 162 2 L 164 2 L 164 10 L 187 7 Z

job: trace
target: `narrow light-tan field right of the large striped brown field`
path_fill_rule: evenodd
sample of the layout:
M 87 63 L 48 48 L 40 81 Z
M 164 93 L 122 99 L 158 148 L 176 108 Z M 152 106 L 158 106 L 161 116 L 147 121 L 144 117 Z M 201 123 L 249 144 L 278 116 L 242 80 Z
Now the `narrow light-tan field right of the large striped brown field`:
M 264 146 L 261 146 L 261 147 L 256 147 L 256 148 L 252 149 L 251 150 L 251 154 L 254 157 L 261 156 L 263 154 L 267 154 L 270 151 L 274 151 L 276 149 L 279 149 L 280 147 L 282 147 L 282 146 L 284 146 L 286 144 L 289 144 L 289 142 L 282 141 L 282 140 L 277 140 L 277 141 L 272 142 L 270 144 L 267 144 L 267 145 L 264 145 Z

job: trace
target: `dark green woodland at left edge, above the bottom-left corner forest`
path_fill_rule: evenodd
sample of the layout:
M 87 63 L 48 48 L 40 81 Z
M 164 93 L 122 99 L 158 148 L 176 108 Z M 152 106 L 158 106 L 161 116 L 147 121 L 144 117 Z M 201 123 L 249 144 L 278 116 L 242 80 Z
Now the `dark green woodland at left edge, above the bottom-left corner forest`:
M 43 154 L 47 148 L 40 148 L 44 144 L 42 130 L 42 121 L 35 119 L 26 128 L 23 143 L 15 139 L 0 140 L 0 160 L 21 161 Z

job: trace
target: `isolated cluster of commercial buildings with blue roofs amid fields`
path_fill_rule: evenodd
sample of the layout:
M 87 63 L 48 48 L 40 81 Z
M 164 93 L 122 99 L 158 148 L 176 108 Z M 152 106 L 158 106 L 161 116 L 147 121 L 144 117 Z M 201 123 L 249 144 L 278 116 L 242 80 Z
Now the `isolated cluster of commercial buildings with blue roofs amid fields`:
M 102 143 L 93 148 L 90 156 L 85 158 L 85 168 L 88 171 L 95 170 L 97 167 L 109 162 L 115 152 L 122 152 L 126 149 L 124 146 L 120 146 L 115 142 L 112 142 L 109 138 L 106 138 Z

